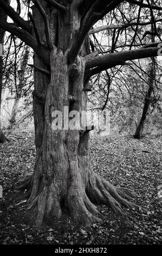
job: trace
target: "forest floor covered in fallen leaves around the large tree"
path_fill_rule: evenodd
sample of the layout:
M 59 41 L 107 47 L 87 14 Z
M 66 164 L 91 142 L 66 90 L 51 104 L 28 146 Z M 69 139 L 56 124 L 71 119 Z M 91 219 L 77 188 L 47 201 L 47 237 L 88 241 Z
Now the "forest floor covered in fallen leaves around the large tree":
M 134 202 L 148 211 L 124 209 L 130 226 L 106 206 L 99 206 L 103 222 L 90 227 L 75 225 L 70 218 L 44 223 L 37 229 L 25 217 L 24 194 L 15 187 L 35 162 L 34 132 L 13 133 L 0 145 L 0 244 L 120 245 L 160 244 L 162 241 L 162 136 L 140 140 L 127 137 L 91 139 L 92 167 L 113 185 L 139 194 Z M 161 185 L 161 188 L 160 188 Z M 159 193 L 159 197 L 158 197 Z M 21 204 L 18 204 L 20 203 Z

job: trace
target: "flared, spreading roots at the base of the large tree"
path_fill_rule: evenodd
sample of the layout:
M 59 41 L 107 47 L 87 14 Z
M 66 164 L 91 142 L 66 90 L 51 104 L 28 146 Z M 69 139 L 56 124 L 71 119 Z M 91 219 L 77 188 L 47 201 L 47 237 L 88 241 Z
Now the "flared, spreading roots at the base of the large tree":
M 68 188 L 67 195 L 64 197 L 65 206 L 69 210 L 70 216 L 76 223 L 90 225 L 101 222 L 102 220 L 95 216 L 98 213 L 96 205 L 104 204 L 109 206 L 116 214 L 122 216 L 127 222 L 128 218 L 122 206 L 125 208 L 142 209 L 139 205 L 129 202 L 131 198 L 137 197 L 137 193 L 128 188 L 115 187 L 95 173 L 92 179 L 89 179 L 89 185 L 85 188 L 83 180 L 80 178 L 73 179 Z M 40 185 L 41 184 L 41 185 Z M 40 179 L 40 173 L 28 175 L 18 189 L 29 189 L 30 198 L 28 199 L 28 210 L 36 210 L 36 226 L 41 227 L 44 217 L 60 218 L 61 210 L 61 193 L 57 188 L 58 184 L 53 181 L 49 186 L 44 184 Z M 32 187 L 32 189 L 31 189 Z M 31 200 L 32 199 L 32 200 Z

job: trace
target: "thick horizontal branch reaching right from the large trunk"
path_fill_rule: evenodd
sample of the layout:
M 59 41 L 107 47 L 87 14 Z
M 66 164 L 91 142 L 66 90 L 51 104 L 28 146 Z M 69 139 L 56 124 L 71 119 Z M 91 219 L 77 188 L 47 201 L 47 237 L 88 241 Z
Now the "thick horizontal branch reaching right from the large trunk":
M 121 65 L 121 62 L 126 62 L 127 60 L 141 59 L 148 57 L 158 56 L 158 47 L 150 48 L 140 48 L 137 50 L 116 52 L 112 54 L 107 54 L 98 57 L 92 57 L 86 62 L 86 68 L 94 68 L 95 66 L 117 66 Z

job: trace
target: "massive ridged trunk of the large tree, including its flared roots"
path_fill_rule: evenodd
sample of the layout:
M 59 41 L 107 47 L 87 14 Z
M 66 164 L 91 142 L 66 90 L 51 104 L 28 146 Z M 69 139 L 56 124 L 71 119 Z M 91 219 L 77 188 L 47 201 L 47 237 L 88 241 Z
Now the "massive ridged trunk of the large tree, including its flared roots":
M 127 200 L 137 195 L 126 188 L 114 187 L 92 171 L 89 132 L 53 129 L 53 111 L 63 113 L 64 107 L 68 107 L 69 112 L 86 110 L 85 60 L 81 57 L 86 47 L 82 48 L 75 63 L 68 64 L 71 38 L 81 20 L 77 1 L 69 3 L 68 13 L 59 16 L 55 10 L 48 9 L 44 1 L 40 2 L 48 15 L 53 45 L 57 47 L 50 52 L 50 80 L 37 69 L 34 71 L 36 163 L 34 174 L 19 188 L 29 190 L 28 209 L 33 209 L 32 215 L 35 212 L 37 227 L 41 226 L 44 217 L 60 218 L 64 208 L 75 222 L 82 224 L 101 221 L 94 215 L 98 212 L 96 204 L 108 205 L 124 215 L 121 205 L 138 208 Z M 33 13 L 41 41 L 45 41 L 42 17 L 35 7 Z M 34 64 L 49 68 L 36 53 Z M 74 101 L 70 101 L 71 96 Z

